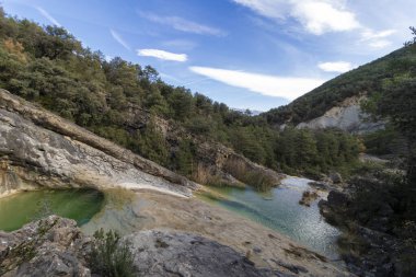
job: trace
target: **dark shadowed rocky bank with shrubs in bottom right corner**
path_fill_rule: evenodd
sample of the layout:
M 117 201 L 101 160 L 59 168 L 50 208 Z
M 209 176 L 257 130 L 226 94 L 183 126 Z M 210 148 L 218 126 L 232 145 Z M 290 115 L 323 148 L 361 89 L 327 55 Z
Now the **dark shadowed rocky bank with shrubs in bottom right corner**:
M 370 198 L 363 200 L 371 203 Z M 346 192 L 332 191 L 327 200 L 321 200 L 319 205 L 324 218 L 343 230 L 338 239 L 340 256 L 351 273 L 369 277 L 415 276 L 416 226 L 408 222 L 391 230 L 394 211 L 388 203 L 382 203 L 380 207 L 370 204 L 372 211 L 369 221 L 362 220 L 362 213 L 368 211 L 355 207 L 357 203 Z

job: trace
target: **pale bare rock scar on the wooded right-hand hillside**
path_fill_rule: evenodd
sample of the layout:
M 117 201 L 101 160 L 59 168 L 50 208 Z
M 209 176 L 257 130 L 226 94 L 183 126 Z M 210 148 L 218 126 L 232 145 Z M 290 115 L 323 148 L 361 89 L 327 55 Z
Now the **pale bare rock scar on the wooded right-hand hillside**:
M 384 128 L 384 123 L 367 120 L 368 115 L 361 111 L 360 102 L 365 96 L 353 96 L 326 111 L 323 116 L 307 123 L 298 124 L 297 128 L 324 129 L 338 128 L 345 131 L 361 134 Z

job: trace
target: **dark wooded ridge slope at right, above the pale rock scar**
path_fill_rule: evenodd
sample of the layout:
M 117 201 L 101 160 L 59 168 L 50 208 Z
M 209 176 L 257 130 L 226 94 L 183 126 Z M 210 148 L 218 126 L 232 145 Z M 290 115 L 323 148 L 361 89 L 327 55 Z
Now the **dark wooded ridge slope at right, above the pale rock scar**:
M 262 114 L 269 124 L 301 122 L 322 116 L 345 99 L 382 91 L 383 84 L 397 77 L 416 74 L 416 53 L 414 47 L 403 47 L 388 56 L 361 66 L 324 83 L 292 103 Z

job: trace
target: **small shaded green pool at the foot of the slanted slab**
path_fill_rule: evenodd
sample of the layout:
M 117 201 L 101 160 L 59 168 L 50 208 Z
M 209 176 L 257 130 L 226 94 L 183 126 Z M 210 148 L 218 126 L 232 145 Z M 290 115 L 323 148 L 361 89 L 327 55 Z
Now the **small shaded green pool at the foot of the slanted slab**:
M 46 215 L 74 219 L 79 226 L 102 209 L 104 194 L 94 189 L 25 192 L 0 198 L 0 230 L 13 231 Z

